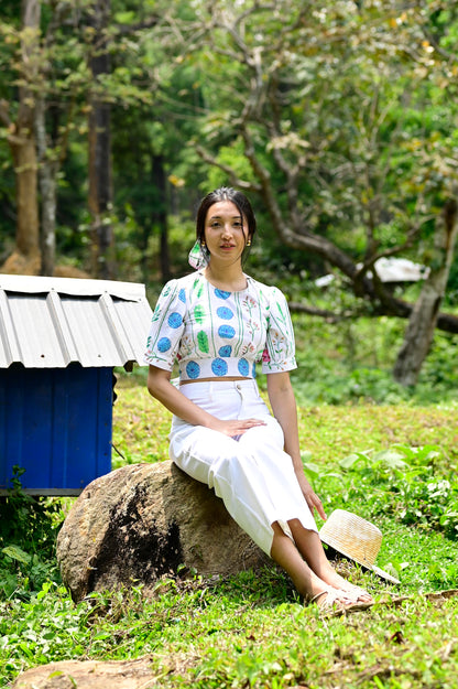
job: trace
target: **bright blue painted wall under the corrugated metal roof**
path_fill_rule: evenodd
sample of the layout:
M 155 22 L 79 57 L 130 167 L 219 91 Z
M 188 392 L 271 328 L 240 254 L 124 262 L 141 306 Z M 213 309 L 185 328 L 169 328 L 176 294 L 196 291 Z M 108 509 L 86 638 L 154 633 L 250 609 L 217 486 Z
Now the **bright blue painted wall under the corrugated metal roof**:
M 0 488 L 78 491 L 111 471 L 112 368 L 0 370 Z

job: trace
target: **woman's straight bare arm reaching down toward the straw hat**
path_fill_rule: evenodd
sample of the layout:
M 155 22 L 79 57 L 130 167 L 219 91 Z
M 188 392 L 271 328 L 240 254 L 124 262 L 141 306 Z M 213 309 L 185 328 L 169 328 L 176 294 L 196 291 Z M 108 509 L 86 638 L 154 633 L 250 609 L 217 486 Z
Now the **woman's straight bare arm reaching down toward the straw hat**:
M 321 500 L 316 495 L 304 474 L 304 467 L 301 459 L 299 434 L 297 428 L 297 408 L 296 398 L 294 396 L 293 386 L 291 384 L 290 374 L 275 373 L 268 374 L 268 394 L 271 402 L 273 416 L 283 429 L 285 439 L 285 452 L 293 460 L 293 466 L 301 489 L 313 514 L 317 510 L 323 519 L 326 514 L 321 505 Z

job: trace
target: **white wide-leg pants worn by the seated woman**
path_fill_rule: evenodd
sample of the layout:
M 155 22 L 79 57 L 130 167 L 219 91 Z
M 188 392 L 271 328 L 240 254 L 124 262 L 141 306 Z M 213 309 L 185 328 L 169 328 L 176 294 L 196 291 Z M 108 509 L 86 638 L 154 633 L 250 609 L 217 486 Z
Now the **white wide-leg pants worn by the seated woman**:
M 282 428 L 260 397 L 255 380 L 189 383 L 179 390 L 219 419 L 254 418 L 265 426 L 229 438 L 174 417 L 170 456 L 175 464 L 214 488 L 232 518 L 269 556 L 273 523 L 291 538 L 291 519 L 317 531 L 293 461 L 283 450 Z

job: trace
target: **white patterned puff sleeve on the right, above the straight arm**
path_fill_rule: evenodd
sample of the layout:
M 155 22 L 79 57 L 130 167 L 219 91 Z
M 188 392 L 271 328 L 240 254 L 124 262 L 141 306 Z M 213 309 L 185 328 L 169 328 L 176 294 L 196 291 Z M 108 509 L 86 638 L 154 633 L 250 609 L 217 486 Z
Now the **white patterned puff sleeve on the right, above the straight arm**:
M 262 355 L 262 373 L 273 374 L 297 367 L 293 323 L 285 295 L 271 288 L 269 300 L 268 335 Z

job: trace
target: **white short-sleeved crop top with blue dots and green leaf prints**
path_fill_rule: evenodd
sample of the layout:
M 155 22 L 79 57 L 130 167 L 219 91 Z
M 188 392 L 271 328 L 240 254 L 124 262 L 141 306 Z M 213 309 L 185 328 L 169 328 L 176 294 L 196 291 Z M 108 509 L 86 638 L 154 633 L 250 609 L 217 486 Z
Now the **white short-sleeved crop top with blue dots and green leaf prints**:
M 296 368 L 294 332 L 284 294 L 249 276 L 247 287 L 227 292 L 200 271 L 167 282 L 157 300 L 144 360 L 181 380 L 255 377 Z

